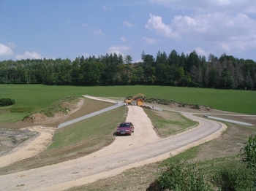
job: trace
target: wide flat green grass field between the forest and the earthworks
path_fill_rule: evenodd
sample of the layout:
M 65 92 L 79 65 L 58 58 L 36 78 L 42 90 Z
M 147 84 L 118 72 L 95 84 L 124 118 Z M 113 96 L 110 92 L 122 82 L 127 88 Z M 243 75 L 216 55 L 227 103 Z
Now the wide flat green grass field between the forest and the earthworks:
M 0 85 L 0 98 L 12 98 L 16 101 L 12 108 L 27 108 L 33 112 L 69 95 L 127 97 L 138 93 L 143 93 L 148 98 L 162 98 L 187 104 L 211 106 L 214 109 L 230 112 L 256 114 L 255 91 L 146 85 L 105 87 Z

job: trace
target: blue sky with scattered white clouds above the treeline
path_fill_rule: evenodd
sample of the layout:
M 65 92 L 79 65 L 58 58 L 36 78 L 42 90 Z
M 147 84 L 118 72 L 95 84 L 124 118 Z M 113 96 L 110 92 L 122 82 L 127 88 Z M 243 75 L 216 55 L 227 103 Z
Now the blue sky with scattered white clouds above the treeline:
M 0 61 L 172 50 L 256 61 L 256 1 L 0 0 Z

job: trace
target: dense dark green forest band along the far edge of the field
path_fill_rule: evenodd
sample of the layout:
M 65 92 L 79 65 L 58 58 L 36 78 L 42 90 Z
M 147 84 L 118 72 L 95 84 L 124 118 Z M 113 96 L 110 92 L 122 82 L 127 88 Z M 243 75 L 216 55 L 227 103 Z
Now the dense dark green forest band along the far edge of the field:
M 43 85 L 170 85 L 256 90 L 256 63 L 225 53 L 219 58 L 193 51 L 181 55 L 141 54 L 141 62 L 116 53 L 98 58 L 27 59 L 0 62 L 0 84 Z

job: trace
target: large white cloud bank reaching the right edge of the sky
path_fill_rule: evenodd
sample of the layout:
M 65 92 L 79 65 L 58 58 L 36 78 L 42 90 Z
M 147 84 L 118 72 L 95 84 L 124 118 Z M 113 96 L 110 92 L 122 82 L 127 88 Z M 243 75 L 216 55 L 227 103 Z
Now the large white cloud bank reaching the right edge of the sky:
M 146 28 L 167 38 L 174 39 L 179 36 L 179 39 L 187 42 L 203 42 L 225 51 L 256 47 L 256 22 L 242 13 L 177 15 L 169 25 L 162 22 L 162 17 L 150 16 Z

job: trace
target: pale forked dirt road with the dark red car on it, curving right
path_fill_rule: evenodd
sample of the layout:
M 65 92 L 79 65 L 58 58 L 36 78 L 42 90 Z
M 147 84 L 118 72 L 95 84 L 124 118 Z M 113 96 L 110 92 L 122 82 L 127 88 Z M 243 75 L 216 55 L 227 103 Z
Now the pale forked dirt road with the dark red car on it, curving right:
M 163 160 L 170 153 L 175 155 L 203 141 L 214 139 L 226 128 L 219 122 L 184 113 L 187 117 L 200 121 L 200 125 L 176 136 L 160 139 L 143 109 L 138 106 L 128 107 L 127 121 L 135 125 L 132 136 L 116 137 L 113 144 L 86 157 L 0 176 L 1 189 L 65 190 L 88 184 L 120 174 L 128 168 Z

